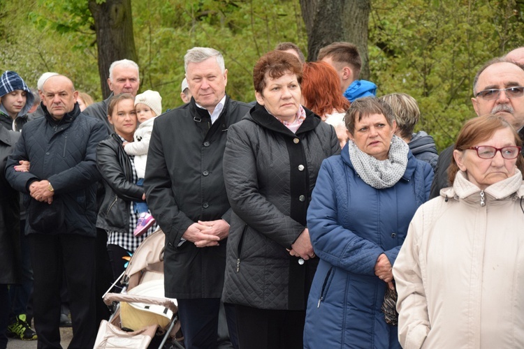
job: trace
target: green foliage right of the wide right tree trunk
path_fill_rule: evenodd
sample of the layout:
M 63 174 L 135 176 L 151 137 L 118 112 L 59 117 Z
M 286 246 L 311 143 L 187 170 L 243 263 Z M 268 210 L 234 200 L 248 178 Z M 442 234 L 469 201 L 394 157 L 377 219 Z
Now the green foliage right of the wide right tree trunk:
M 370 68 L 379 94 L 405 92 L 419 102 L 418 129 L 440 149 L 475 115 L 476 71 L 521 46 L 523 13 L 514 0 L 373 1 Z

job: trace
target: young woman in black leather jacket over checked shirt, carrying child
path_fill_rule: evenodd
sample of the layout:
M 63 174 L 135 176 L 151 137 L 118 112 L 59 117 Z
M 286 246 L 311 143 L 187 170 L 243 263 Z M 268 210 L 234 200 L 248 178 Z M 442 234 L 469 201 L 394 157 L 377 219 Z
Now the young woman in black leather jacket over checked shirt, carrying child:
M 115 128 L 115 133 L 100 142 L 96 149 L 96 165 L 105 186 L 105 198 L 96 226 L 108 232 L 108 254 L 115 279 L 124 272 L 126 260 L 123 258 L 129 257 L 155 228 L 149 225 L 142 231 L 137 231 L 142 217 L 136 206 L 145 204 L 145 194 L 143 187 L 139 185 L 135 156 L 126 152 L 129 145 L 124 150 L 124 144 L 134 143 L 133 135 L 137 126 L 135 101 L 141 95 L 136 98 L 137 100 L 131 94 L 119 94 L 111 99 L 108 120 Z M 150 214 L 147 206 L 145 212 Z

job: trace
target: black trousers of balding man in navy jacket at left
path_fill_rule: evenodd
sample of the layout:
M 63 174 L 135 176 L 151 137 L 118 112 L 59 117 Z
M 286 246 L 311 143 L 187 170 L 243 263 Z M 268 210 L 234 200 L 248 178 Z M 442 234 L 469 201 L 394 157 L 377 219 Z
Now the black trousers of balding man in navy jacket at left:
M 38 349 L 60 346 L 60 285 L 65 274 L 73 322 L 68 348 L 93 348 L 95 237 L 78 234 L 29 235 L 34 277 L 34 324 Z

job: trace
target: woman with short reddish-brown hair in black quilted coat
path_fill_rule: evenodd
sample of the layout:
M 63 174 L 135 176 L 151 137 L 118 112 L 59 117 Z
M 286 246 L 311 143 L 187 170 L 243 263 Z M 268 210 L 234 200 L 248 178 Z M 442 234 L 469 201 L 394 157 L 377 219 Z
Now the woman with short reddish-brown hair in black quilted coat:
M 256 105 L 228 129 L 224 178 L 233 209 L 224 302 L 240 348 L 303 348 L 317 259 L 306 212 L 323 159 L 340 152 L 332 126 L 300 105 L 302 65 L 272 51 L 253 73 Z

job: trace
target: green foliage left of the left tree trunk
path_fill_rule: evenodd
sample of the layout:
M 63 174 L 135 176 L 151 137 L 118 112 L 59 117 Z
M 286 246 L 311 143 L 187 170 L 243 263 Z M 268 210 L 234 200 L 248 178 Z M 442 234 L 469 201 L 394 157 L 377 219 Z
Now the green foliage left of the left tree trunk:
M 42 73 L 56 71 L 71 77 L 77 89 L 98 96 L 94 35 L 90 38 L 88 22 L 77 24 L 84 21 L 52 2 L 1 1 L 0 70 L 15 70 L 35 89 Z

